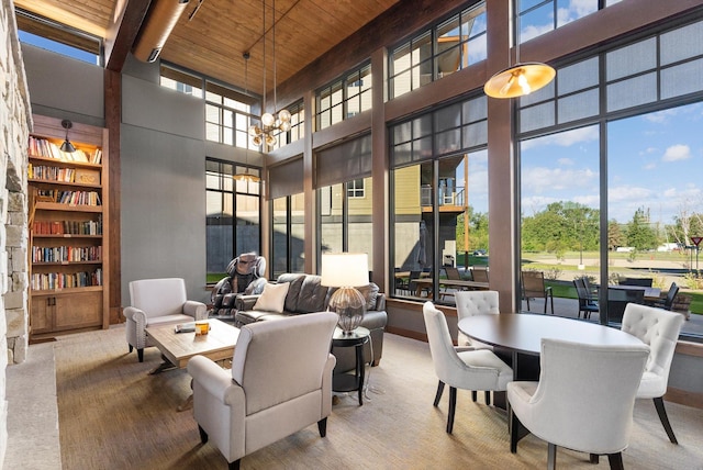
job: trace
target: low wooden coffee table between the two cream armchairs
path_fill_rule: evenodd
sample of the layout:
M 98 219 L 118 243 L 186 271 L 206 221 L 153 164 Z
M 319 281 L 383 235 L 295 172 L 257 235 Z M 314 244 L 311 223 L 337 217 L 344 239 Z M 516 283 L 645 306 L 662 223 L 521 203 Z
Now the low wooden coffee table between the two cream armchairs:
M 176 333 L 175 324 L 147 326 L 146 335 L 161 351 L 164 362 L 149 373 L 155 374 L 164 370 L 188 366 L 188 360 L 197 355 L 204 356 L 215 362 L 232 359 L 234 347 L 239 337 L 239 328 L 216 318 L 207 320 L 210 324 L 210 333 L 196 336 L 196 333 Z M 186 403 L 178 407 L 183 411 L 190 407 L 192 394 Z

